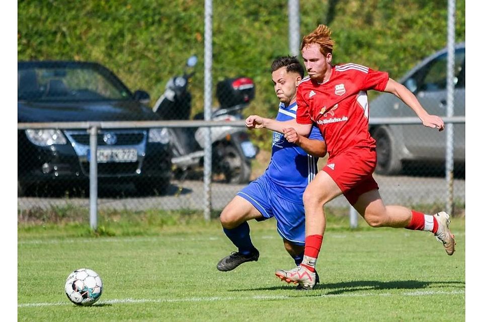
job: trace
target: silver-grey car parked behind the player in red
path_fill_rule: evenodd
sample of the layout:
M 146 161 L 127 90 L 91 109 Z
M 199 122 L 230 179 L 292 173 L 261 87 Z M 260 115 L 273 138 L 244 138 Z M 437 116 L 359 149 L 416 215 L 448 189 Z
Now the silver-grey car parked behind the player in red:
M 454 116 L 464 116 L 464 55 L 465 45 L 455 45 Z M 446 116 L 447 49 L 430 55 L 411 69 L 400 83 L 412 91 L 430 114 Z M 411 108 L 392 94 L 382 93 L 370 103 L 370 117 L 416 117 Z M 464 124 L 454 124 L 455 169 L 464 169 Z M 377 141 L 376 173 L 394 175 L 401 172 L 405 162 L 424 162 L 444 165 L 445 132 L 418 125 L 373 125 L 370 133 Z

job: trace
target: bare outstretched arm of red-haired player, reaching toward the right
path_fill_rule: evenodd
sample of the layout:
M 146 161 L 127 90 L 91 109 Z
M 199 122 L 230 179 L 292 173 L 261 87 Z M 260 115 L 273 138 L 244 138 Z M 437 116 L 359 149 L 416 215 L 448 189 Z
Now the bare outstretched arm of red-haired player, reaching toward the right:
M 440 131 L 444 130 L 443 120 L 437 115 L 428 114 L 423 106 L 421 106 L 416 96 L 403 84 L 400 84 L 394 81 L 394 79 L 389 78 L 384 92 L 394 94 L 406 105 L 408 105 L 416 113 L 416 115 L 418 115 L 424 126 L 437 128 Z

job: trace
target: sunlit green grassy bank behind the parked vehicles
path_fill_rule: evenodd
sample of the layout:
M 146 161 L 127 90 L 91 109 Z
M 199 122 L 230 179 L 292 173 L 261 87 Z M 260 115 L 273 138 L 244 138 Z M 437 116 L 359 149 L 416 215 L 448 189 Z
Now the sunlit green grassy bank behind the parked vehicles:
M 465 3 L 456 1 L 456 40 L 464 41 Z M 335 62 L 356 62 L 402 76 L 447 40 L 446 1 L 300 1 L 300 32 L 334 30 Z M 252 77 L 257 94 L 245 113 L 275 116 L 270 63 L 289 53 L 287 1 L 213 1 L 213 84 Z M 18 59 L 98 61 L 151 104 L 168 78 L 196 54 L 193 113 L 203 109 L 204 1 L 18 2 Z M 214 86 L 213 86 L 214 88 Z M 269 133 L 252 132 L 269 148 Z M 264 146 L 265 144 L 266 146 Z

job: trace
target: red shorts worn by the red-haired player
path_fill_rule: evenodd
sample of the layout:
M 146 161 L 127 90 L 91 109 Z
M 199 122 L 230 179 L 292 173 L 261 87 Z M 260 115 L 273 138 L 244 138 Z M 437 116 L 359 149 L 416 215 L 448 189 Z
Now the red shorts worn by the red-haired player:
M 353 148 L 329 157 L 322 170 L 331 176 L 353 205 L 363 193 L 379 189 L 372 177 L 376 163 L 375 148 Z

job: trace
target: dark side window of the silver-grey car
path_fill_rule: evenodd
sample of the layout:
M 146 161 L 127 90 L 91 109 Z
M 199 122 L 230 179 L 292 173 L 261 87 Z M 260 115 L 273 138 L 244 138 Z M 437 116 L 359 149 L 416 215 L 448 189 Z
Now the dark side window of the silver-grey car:
M 446 89 L 446 70 L 448 54 L 444 53 L 433 59 L 428 68 L 423 68 L 424 76 L 421 77 L 420 89 L 424 91 L 441 91 Z M 459 75 L 464 74 L 464 49 L 458 49 L 454 56 L 454 79 L 455 87 L 460 87 Z M 464 75 L 463 75 L 464 78 Z M 464 86 L 464 84 L 463 84 Z

